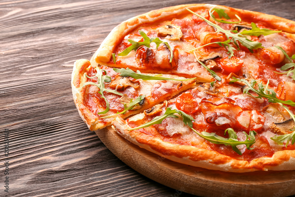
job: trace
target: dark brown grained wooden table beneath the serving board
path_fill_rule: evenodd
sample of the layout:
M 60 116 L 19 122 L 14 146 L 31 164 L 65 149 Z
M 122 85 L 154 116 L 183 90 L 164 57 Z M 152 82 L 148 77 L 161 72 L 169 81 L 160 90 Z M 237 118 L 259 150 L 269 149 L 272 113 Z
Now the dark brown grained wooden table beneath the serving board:
M 120 22 L 165 6 L 203 2 L 295 20 L 293 0 L 1 0 L 0 196 L 192 196 L 144 177 L 114 156 L 80 118 L 70 82 L 74 61 L 90 59 Z

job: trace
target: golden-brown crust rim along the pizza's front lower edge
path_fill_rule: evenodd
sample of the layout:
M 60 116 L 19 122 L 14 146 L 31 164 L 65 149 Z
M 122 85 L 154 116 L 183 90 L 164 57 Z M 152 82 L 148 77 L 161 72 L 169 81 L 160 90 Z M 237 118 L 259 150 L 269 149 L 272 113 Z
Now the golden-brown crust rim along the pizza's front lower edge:
M 186 165 L 205 167 L 210 170 L 226 172 L 252 172 L 256 170 L 295 170 L 295 151 L 278 151 L 272 157 L 260 157 L 248 162 L 238 160 L 216 151 L 172 144 L 154 136 L 141 133 L 137 130 L 128 131 L 130 126 L 117 117 L 112 122 L 113 128 L 125 139 L 147 149 L 150 152 Z

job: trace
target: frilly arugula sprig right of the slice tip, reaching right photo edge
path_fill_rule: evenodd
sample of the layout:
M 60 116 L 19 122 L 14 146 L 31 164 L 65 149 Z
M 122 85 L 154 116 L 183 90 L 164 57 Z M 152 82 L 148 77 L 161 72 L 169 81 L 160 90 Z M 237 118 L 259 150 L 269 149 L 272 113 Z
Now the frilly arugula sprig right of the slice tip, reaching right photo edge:
M 268 83 L 269 81 L 267 82 L 266 86 L 263 86 L 262 82 L 258 83 L 256 82 L 255 79 L 252 79 L 252 81 L 249 82 L 245 79 L 237 79 L 235 77 L 232 77 L 234 80 L 230 81 L 230 84 L 234 83 L 234 82 L 237 82 L 237 81 L 241 81 L 241 82 L 244 82 L 248 88 L 244 88 L 244 91 L 243 93 L 244 94 L 248 94 L 248 95 L 251 95 L 253 96 L 249 91 L 252 90 L 253 92 L 255 92 L 258 96 L 253 96 L 255 98 L 266 98 L 268 99 L 268 102 L 272 102 L 272 103 L 281 103 L 281 104 L 286 104 L 286 105 L 291 105 L 291 106 L 295 106 L 295 102 L 291 101 L 291 100 L 287 100 L 287 101 L 283 101 L 283 100 L 280 100 L 276 97 L 276 92 L 273 90 L 273 89 L 269 89 L 267 86 L 268 86 Z M 258 85 L 258 89 L 255 89 L 254 86 L 255 84 Z

